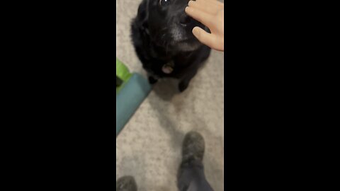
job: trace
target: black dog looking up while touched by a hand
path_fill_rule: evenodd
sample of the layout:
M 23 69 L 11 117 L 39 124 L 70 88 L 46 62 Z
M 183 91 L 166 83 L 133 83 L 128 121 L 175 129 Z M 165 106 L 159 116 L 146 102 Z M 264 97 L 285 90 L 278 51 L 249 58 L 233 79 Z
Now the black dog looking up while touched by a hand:
M 195 26 L 209 30 L 186 15 L 187 5 L 188 0 L 143 0 L 132 21 L 132 42 L 149 82 L 180 79 L 181 92 L 210 54 L 192 33 Z

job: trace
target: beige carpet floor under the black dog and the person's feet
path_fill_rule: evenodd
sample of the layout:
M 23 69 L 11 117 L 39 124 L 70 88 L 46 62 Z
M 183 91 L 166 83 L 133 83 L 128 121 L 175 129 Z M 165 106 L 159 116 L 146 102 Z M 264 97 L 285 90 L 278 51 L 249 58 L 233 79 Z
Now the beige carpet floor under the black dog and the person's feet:
M 131 19 L 141 0 L 118 0 L 116 55 L 130 71 L 146 76 L 130 40 Z M 176 81 L 157 83 L 116 139 L 116 175 L 133 175 L 140 191 L 176 191 L 181 143 L 186 132 L 203 134 L 205 175 L 215 191 L 224 190 L 224 54 L 212 51 L 188 89 Z

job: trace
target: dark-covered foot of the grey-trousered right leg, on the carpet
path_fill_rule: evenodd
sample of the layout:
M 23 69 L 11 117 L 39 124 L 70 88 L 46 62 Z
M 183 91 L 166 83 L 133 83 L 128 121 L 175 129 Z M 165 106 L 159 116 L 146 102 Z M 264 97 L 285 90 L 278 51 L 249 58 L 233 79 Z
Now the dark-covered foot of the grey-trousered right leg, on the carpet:
M 188 132 L 182 146 L 182 164 L 191 161 L 203 161 L 205 142 L 198 132 Z

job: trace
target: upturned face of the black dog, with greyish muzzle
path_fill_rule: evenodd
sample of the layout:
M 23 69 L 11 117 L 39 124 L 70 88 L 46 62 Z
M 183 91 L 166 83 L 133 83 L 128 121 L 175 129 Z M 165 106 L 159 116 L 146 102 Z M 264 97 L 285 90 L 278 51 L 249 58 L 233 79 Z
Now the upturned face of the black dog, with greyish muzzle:
M 202 45 L 192 30 L 195 26 L 208 28 L 185 13 L 189 0 L 146 1 L 147 27 L 154 42 L 169 51 L 193 51 Z

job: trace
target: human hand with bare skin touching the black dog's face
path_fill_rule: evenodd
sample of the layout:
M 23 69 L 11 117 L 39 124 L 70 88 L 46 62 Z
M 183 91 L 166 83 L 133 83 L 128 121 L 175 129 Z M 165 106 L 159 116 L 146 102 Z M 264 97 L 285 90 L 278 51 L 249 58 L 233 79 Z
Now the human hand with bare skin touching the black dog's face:
M 204 45 L 215 50 L 225 50 L 224 13 L 225 6 L 217 0 L 189 1 L 186 13 L 207 26 L 211 33 L 199 27 L 193 28 L 193 35 Z

